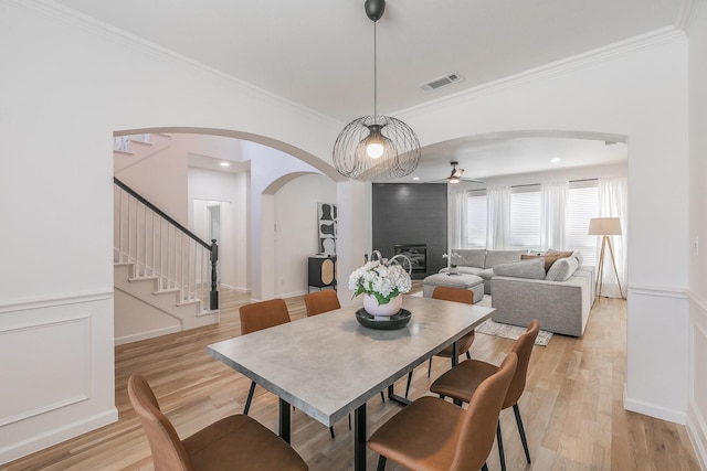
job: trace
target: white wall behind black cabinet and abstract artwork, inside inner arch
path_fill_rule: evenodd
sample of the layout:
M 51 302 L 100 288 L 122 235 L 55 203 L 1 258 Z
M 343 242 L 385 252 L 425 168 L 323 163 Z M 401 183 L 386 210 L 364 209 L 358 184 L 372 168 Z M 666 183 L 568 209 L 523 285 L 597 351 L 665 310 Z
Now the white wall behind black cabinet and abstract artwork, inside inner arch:
M 336 204 L 336 183 L 325 175 L 299 176 L 275 193 L 277 297 L 307 292 L 307 257 L 319 251 L 317 203 Z

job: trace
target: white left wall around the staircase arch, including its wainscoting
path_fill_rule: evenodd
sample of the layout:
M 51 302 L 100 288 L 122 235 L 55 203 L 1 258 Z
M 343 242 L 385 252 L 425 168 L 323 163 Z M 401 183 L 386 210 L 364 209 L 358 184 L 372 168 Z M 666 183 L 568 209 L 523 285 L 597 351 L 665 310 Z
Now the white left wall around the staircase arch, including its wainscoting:
M 7 462 L 117 419 L 114 131 L 233 130 L 324 167 L 340 125 L 51 2 L 0 0 L 0 57 Z

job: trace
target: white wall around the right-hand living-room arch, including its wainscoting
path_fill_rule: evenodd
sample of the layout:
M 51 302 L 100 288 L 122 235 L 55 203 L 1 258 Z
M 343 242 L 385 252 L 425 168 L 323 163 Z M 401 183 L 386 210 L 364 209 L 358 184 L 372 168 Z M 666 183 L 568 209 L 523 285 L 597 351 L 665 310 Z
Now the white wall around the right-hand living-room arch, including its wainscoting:
M 662 33 L 650 43 L 514 77 L 456 100 L 411 109 L 400 118 L 418 129 L 425 143 L 514 130 L 627 137 L 631 233 L 624 406 L 684 422 L 687 41 L 682 34 Z M 661 269 L 655 268 L 655 250 L 669 250 Z

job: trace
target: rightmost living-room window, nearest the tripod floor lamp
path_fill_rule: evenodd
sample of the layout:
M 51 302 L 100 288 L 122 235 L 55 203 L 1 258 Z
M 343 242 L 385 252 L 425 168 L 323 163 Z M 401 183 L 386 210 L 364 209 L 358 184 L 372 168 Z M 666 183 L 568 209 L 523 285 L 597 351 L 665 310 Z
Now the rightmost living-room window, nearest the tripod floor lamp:
M 589 220 L 599 214 L 597 180 L 571 182 L 567 201 L 567 242 L 569 249 L 582 254 L 584 265 L 597 266 L 597 236 L 590 236 Z

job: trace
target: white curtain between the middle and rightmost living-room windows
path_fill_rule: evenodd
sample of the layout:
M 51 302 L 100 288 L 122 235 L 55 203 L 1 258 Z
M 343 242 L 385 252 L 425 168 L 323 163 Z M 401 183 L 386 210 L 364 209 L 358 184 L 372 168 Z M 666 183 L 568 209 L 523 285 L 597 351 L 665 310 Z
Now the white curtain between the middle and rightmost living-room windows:
M 568 246 L 566 228 L 568 182 L 540 185 L 540 244 L 541 250 L 564 249 Z

